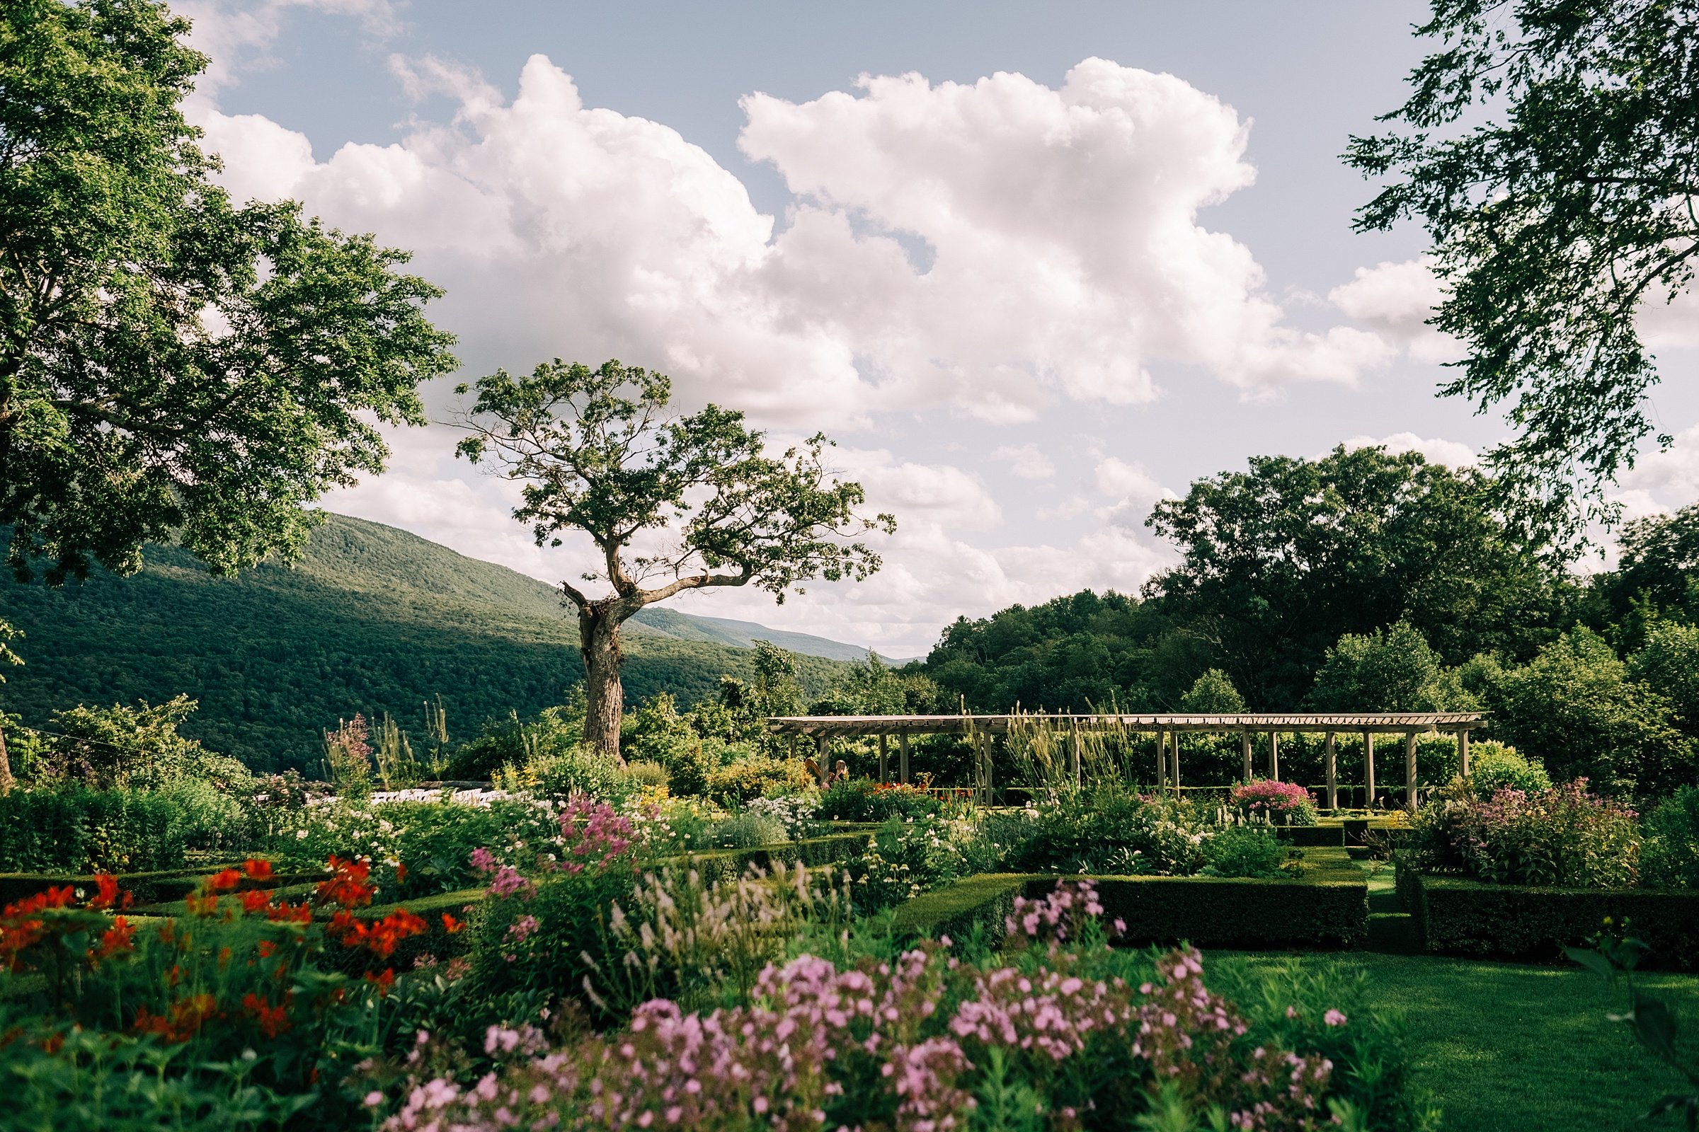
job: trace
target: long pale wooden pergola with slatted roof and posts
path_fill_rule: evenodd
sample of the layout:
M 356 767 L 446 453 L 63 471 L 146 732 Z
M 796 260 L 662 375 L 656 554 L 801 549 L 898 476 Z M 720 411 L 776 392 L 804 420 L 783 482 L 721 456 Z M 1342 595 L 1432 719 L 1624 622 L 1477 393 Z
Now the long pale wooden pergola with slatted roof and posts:
M 911 735 L 967 735 L 972 738 L 977 767 L 975 787 L 991 799 L 991 737 L 1006 735 L 1011 728 L 1033 726 L 1043 723 L 1077 735 L 1084 730 L 1116 730 L 1121 733 L 1154 733 L 1157 740 L 1157 786 L 1166 789 L 1172 784 L 1179 789 L 1179 737 L 1193 733 L 1239 735 L 1239 750 L 1244 760 L 1242 777 L 1250 781 L 1250 737 L 1266 731 L 1269 737 L 1271 779 L 1279 779 L 1279 733 L 1318 733 L 1327 737 L 1324 765 L 1327 772 L 1325 808 L 1339 806 L 1339 771 L 1334 754 L 1337 735 L 1363 737 L 1363 777 L 1364 798 L 1374 804 L 1374 737 L 1403 737 L 1403 791 L 1405 804 L 1415 808 L 1415 737 L 1422 733 L 1449 733 L 1458 740 L 1459 769 L 1470 772 L 1470 731 L 1485 723 L 1478 711 L 1356 711 L 1356 713 L 1307 713 L 1307 715 L 950 715 L 950 716 L 775 716 L 766 721 L 768 730 L 776 735 L 790 735 L 792 754 L 802 738 L 812 738 L 821 774 L 826 774 L 826 745 L 833 738 L 878 737 L 878 781 L 890 781 L 889 748 L 892 735 L 897 737 L 897 781 L 909 781 L 909 737 Z M 1070 769 L 1079 777 L 1079 745 L 1070 743 Z

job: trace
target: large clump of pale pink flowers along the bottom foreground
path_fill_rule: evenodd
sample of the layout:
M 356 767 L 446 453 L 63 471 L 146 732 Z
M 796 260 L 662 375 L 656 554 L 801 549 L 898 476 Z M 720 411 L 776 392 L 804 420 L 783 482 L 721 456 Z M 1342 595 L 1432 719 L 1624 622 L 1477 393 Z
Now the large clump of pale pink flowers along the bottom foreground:
M 386 1129 L 950 1132 L 982 1105 L 992 1064 L 1018 1066 L 1040 1086 L 1036 1115 L 1058 1130 L 1082 1127 L 1099 1103 L 1133 1103 L 1103 1113 L 1125 1124 L 1138 1112 L 1128 1096 L 1157 1090 L 1218 1105 L 1235 1129 L 1330 1124 L 1332 1064 L 1273 1044 L 1247 1049 L 1245 1022 L 1205 986 L 1198 952 L 1171 952 L 1138 988 L 1091 976 L 1103 937 L 1089 920 L 1099 913 L 1089 883 L 1064 884 L 1023 901 L 1004 962 L 962 964 L 938 944 L 850 969 L 800 955 L 763 969 L 748 1006 L 686 1013 L 651 1000 L 620 1032 L 508 1059 L 472 1088 L 420 1081 Z M 1064 947 L 1070 932 L 1077 942 Z M 535 1045 L 535 1032 L 493 1030 L 486 1052 Z M 1140 1088 L 1098 1088 L 1121 1081 Z

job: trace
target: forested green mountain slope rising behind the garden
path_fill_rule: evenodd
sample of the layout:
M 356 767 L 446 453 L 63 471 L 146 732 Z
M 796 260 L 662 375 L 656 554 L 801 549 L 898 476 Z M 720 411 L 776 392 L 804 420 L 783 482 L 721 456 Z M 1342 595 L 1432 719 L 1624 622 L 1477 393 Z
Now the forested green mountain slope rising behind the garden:
M 336 514 L 292 567 L 216 579 L 182 550 L 150 546 L 134 577 L 58 591 L 0 580 L 0 609 L 24 630 L 27 660 L 0 686 L 5 711 L 42 726 L 54 708 L 187 692 L 200 709 L 183 731 L 260 771 L 316 767 L 319 733 L 355 711 L 421 730 L 423 703 L 440 694 L 450 737 L 466 740 L 510 709 L 561 703 L 583 679 L 578 619 L 554 587 Z M 751 638 L 715 621 L 649 609 L 627 623 L 627 699 L 668 691 L 690 704 L 722 674 L 753 675 Z M 843 664 L 804 655 L 800 667 L 817 694 Z

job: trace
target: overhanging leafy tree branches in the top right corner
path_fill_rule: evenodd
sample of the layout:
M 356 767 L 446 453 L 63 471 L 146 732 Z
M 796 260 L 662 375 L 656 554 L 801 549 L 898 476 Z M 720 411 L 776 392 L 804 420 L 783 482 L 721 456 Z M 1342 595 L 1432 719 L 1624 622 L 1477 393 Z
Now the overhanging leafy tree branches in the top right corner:
M 1393 177 L 1356 226 L 1424 224 L 1446 289 L 1429 322 L 1466 350 L 1442 392 L 1509 404 L 1497 482 L 1573 536 L 1614 514 L 1604 487 L 1651 431 L 1638 319 L 1694 278 L 1699 2 L 1434 0 L 1417 34 L 1437 42 L 1397 127 L 1346 153 Z

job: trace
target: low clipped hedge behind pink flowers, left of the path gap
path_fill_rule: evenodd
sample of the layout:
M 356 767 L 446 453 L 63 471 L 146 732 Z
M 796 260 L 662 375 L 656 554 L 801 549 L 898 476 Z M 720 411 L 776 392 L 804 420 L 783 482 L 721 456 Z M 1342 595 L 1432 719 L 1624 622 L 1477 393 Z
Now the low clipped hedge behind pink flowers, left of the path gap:
M 912 937 L 963 935 L 979 925 L 1002 935 L 1014 896 L 1045 896 L 1062 879 L 982 874 L 923 893 L 897 908 L 894 927 Z M 1086 877 L 1081 877 L 1086 879 Z M 1368 935 L 1368 877 L 1344 847 L 1305 852 L 1296 879 L 1211 876 L 1094 876 L 1106 920 L 1125 920 L 1126 944 L 1198 947 L 1354 947 Z

